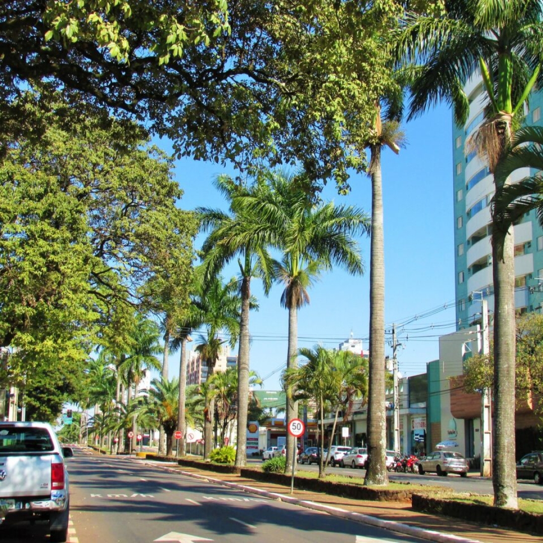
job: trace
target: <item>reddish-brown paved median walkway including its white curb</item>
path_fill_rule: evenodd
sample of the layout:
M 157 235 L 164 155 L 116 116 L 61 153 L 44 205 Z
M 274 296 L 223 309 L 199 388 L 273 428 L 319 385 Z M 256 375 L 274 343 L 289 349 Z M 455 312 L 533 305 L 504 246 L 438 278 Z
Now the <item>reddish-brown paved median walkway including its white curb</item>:
M 147 462 L 147 460 L 142 460 Z M 195 468 L 181 467 L 176 464 L 152 463 L 163 465 L 168 471 L 183 473 L 195 478 L 234 487 L 251 494 L 268 496 L 286 502 L 293 502 L 301 507 L 320 510 L 350 520 L 365 522 L 374 526 L 392 529 L 403 534 L 413 535 L 438 543 L 541 543 L 541 537 L 515 532 L 509 529 L 478 526 L 451 517 L 419 513 L 411 509 L 408 503 L 372 502 L 331 496 L 306 490 L 291 489 L 255 479 L 244 478 L 229 473 L 216 473 Z

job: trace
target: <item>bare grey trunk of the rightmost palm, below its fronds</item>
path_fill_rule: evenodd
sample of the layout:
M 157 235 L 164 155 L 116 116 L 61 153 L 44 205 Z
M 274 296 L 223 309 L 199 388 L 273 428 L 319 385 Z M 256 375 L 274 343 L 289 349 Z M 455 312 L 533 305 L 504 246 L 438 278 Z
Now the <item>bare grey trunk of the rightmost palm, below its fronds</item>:
M 517 509 L 515 470 L 515 256 L 513 227 L 503 256 L 493 237 L 494 274 L 494 505 Z

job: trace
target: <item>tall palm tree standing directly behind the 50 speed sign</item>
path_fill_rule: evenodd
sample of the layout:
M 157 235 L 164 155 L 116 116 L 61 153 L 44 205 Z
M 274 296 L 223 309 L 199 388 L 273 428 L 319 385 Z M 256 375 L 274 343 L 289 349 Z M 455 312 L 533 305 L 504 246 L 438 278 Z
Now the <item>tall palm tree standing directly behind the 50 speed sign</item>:
M 304 190 L 307 185 L 303 173 L 264 172 L 247 206 L 273 227 L 272 244 L 283 253 L 282 260 L 274 262 L 274 270 L 285 286 L 281 305 L 288 310 L 287 368 L 298 365 L 298 309 L 310 301 L 307 288 L 333 264 L 362 274 L 362 257 L 353 236 L 368 232 L 370 226 L 367 214 L 356 207 L 315 205 Z M 287 397 L 287 421 L 296 416 L 298 407 Z M 292 469 L 293 447 L 294 438 L 287 435 L 287 471 Z

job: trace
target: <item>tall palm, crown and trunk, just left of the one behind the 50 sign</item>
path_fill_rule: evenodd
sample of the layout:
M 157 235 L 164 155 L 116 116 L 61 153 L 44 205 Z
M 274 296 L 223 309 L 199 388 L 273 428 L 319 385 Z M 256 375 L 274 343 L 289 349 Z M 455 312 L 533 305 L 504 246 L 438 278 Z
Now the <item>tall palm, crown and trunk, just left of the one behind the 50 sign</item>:
M 251 309 L 251 278 L 260 277 L 264 293 L 271 286 L 271 257 L 267 250 L 269 226 L 247 210 L 247 202 L 254 193 L 250 188 L 236 185 L 222 175 L 215 182 L 218 190 L 230 203 L 230 213 L 200 208 L 201 229 L 210 230 L 202 252 L 207 274 L 213 276 L 237 257 L 241 275 L 241 314 L 239 318 L 239 350 L 237 397 L 236 466 L 247 461 L 247 413 L 249 401 L 249 311 Z M 252 305 L 254 307 L 254 305 Z

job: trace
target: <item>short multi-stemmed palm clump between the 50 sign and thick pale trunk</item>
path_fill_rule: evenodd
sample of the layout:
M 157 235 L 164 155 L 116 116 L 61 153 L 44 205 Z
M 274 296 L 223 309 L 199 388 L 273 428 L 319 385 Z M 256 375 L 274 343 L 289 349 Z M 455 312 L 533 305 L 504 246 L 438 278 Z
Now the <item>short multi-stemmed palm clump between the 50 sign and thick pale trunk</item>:
M 287 395 L 296 400 L 312 400 L 317 406 L 320 420 L 319 478 L 323 478 L 330 458 L 324 458 L 325 412 L 331 410 L 334 414 L 332 443 L 339 411 L 343 410 L 344 418 L 348 417 L 354 400 L 367 392 L 367 363 L 350 351 L 333 351 L 321 346 L 302 348 L 298 354 L 307 362 L 297 368 L 287 368 L 282 376 L 283 386 Z

